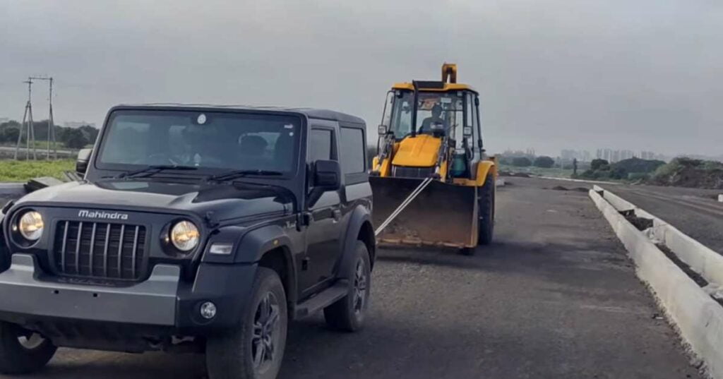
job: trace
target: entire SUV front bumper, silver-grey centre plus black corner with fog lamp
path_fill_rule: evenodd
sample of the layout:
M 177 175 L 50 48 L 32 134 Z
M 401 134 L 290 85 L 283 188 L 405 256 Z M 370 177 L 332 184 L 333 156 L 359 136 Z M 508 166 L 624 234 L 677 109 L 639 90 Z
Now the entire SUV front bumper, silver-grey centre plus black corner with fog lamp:
M 43 272 L 35 255 L 16 253 L 0 273 L 0 320 L 48 334 L 122 326 L 122 334 L 204 336 L 239 323 L 256 271 L 255 263 L 201 263 L 188 282 L 178 265 L 157 264 L 147 280 L 130 286 L 61 283 Z M 217 309 L 211 320 L 199 312 L 207 301 Z

